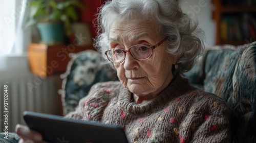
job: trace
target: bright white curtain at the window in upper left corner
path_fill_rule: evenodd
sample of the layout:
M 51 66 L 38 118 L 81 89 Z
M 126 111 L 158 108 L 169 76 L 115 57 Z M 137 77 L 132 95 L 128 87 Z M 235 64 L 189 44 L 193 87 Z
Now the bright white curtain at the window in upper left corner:
M 30 30 L 23 28 L 23 23 L 29 1 L 0 0 L 0 70 L 10 67 L 10 57 L 24 57 L 27 52 L 31 36 Z

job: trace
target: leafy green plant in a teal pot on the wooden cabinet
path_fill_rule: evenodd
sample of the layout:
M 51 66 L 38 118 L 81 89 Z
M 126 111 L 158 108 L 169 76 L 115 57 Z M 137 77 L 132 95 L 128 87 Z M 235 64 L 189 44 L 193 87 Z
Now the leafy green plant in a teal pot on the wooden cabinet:
M 34 0 L 26 25 L 37 24 L 43 43 L 64 43 L 65 35 L 71 35 L 71 23 L 78 19 L 77 8 L 84 8 L 77 0 Z

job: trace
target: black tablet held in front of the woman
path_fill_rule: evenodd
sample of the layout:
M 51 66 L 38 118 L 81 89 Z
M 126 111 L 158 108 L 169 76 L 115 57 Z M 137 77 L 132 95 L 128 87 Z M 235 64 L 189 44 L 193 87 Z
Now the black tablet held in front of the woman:
M 48 142 L 128 142 L 124 130 L 115 125 L 30 111 L 25 111 L 23 116 L 28 127 L 41 133 Z

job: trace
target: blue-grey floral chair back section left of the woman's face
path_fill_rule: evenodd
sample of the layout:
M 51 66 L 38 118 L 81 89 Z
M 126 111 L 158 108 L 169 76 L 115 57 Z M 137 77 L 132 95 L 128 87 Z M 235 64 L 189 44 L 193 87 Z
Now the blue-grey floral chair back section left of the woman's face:
M 87 96 L 97 82 L 117 80 L 117 74 L 96 51 L 83 51 L 71 56 L 65 74 L 61 75 L 63 112 L 75 110 L 81 98 Z

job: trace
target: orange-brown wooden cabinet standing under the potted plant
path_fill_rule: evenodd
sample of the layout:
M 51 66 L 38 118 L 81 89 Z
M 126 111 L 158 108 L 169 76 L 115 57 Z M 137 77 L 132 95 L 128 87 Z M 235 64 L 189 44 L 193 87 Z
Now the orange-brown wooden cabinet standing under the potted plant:
M 28 49 L 28 61 L 33 74 L 47 77 L 65 73 L 70 54 L 84 50 L 95 50 L 93 46 L 46 45 L 31 43 Z

